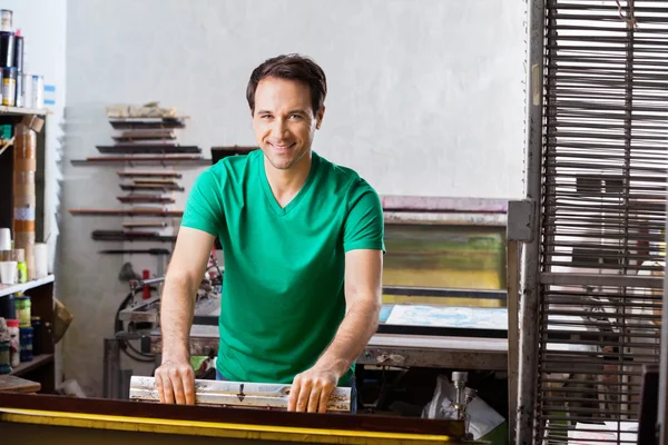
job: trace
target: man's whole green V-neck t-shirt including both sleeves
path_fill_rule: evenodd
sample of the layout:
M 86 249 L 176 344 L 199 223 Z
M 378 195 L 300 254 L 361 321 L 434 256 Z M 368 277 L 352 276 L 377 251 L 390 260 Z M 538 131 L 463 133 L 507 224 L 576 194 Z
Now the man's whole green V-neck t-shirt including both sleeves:
M 229 379 L 292 383 L 313 366 L 345 314 L 345 253 L 385 250 L 375 190 L 348 168 L 315 152 L 312 159 L 284 208 L 262 150 L 222 159 L 189 194 L 181 226 L 218 236 L 223 246 L 216 366 Z

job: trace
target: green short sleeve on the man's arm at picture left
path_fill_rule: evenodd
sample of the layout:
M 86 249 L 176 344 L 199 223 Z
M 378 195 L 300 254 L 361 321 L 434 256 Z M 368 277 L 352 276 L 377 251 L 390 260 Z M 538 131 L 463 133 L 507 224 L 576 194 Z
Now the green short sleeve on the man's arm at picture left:
M 218 236 L 224 227 L 225 212 L 222 199 L 223 178 L 207 169 L 203 171 L 188 195 L 181 227 L 189 227 Z

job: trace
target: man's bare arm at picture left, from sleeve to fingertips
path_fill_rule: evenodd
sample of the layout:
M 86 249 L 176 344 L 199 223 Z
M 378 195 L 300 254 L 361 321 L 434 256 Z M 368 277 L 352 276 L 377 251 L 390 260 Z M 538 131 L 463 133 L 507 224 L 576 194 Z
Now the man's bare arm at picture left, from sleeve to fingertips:
M 194 404 L 194 372 L 188 338 L 193 325 L 195 296 L 208 261 L 215 237 L 181 227 L 160 298 L 163 364 L 156 369 L 156 385 L 165 403 Z

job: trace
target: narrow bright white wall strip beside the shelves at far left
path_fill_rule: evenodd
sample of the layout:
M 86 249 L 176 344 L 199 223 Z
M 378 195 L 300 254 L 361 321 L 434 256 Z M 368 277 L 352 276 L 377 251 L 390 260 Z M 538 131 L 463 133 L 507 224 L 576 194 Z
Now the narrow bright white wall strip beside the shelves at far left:
M 55 265 L 59 227 L 58 207 L 60 201 L 60 169 L 63 138 L 63 111 L 66 96 L 66 0 L 3 0 L 2 8 L 13 11 L 13 28 L 20 29 L 24 44 L 24 72 L 42 75 L 46 85 L 56 87 L 55 106 L 48 106 L 46 131 L 46 191 L 45 191 L 45 237 L 48 237 L 51 269 Z M 56 296 L 60 287 L 56 284 Z M 60 359 L 56 366 L 60 372 Z

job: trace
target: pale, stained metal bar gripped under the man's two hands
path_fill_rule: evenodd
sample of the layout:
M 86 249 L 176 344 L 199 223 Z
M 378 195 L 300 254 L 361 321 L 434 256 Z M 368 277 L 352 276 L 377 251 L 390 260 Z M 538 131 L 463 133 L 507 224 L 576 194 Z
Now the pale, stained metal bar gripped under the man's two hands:
M 244 382 L 195 380 L 195 404 L 287 408 L 291 385 Z M 336 387 L 327 403 L 328 412 L 351 411 L 351 388 Z M 159 402 L 154 377 L 132 376 L 130 399 Z

